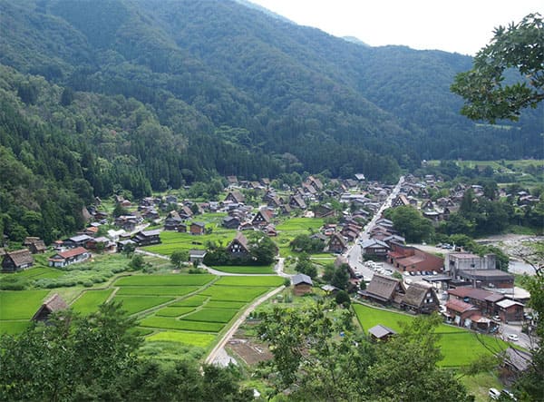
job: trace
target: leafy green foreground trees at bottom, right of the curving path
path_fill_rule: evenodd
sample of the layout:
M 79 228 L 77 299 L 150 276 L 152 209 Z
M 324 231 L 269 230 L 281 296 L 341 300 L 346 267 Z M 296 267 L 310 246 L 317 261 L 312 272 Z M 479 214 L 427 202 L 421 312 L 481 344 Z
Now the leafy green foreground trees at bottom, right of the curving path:
M 392 341 L 373 343 L 356 333 L 349 309 L 323 302 L 276 307 L 259 328 L 274 355 L 264 372 L 294 401 L 470 401 L 452 372 L 436 366 L 433 328 L 440 321 L 418 317 Z

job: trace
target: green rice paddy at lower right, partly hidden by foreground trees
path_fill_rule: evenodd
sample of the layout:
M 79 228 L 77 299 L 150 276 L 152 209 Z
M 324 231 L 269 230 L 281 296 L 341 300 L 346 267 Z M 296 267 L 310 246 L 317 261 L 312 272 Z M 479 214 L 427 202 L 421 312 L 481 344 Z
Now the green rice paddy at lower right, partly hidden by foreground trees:
M 362 304 L 352 305 L 355 315 L 364 331 L 382 324 L 396 331 L 401 330 L 401 323 L 409 323 L 413 317 L 384 309 L 374 309 Z M 481 356 L 491 355 L 490 350 L 504 350 L 508 343 L 487 335 L 477 335 L 469 330 L 442 324 L 436 332 L 441 335 L 439 346 L 443 359 L 442 367 L 458 368 L 471 364 Z

